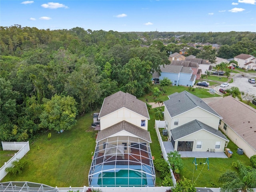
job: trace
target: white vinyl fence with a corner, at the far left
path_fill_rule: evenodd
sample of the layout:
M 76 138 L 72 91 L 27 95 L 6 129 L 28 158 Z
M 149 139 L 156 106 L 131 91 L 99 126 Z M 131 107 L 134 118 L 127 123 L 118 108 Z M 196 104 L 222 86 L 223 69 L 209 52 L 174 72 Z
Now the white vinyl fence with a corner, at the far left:
M 18 152 L 15 153 L 14 156 L 10 160 L 8 160 L 8 162 L 4 162 L 4 165 L 0 168 L 0 180 L 2 180 L 7 175 L 5 169 L 7 167 L 11 167 L 13 161 L 15 161 L 16 159 L 21 159 L 30 150 L 29 142 L 3 142 L 2 141 L 2 146 L 3 146 L 3 150 L 6 150 L 6 151 L 14 150 Z

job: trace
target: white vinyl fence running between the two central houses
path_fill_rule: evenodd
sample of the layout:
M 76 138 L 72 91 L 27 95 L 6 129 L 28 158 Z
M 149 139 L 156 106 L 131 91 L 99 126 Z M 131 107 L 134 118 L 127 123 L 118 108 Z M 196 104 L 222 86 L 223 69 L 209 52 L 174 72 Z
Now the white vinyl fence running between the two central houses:
M 157 134 L 157 137 L 158 137 L 158 142 L 160 144 L 160 147 L 161 147 L 161 150 L 162 150 L 162 154 L 163 154 L 163 158 L 168 161 L 168 155 L 166 153 L 166 150 L 164 148 L 164 143 L 163 143 L 163 140 L 162 140 L 162 137 L 161 137 L 161 134 L 159 132 L 159 129 L 158 128 L 165 128 L 165 125 L 166 125 L 166 122 L 165 121 L 160 121 L 160 120 L 156 120 L 155 121 L 155 130 L 156 130 L 156 134 Z M 172 176 L 172 183 L 173 183 L 173 186 L 176 186 L 176 179 L 174 177 L 174 174 L 172 172 L 172 169 L 170 169 L 170 172 L 171 172 L 171 176 Z

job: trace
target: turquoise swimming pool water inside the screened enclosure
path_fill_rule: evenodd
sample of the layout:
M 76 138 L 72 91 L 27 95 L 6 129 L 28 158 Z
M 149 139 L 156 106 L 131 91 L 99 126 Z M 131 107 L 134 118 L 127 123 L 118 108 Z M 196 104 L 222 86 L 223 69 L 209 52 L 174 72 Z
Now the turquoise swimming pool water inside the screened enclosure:
M 102 172 L 98 177 L 99 186 L 123 186 L 123 187 L 132 187 L 132 186 L 146 186 L 147 179 L 146 174 L 135 171 L 135 170 L 119 170 L 116 172 Z M 128 178 L 129 177 L 129 178 Z M 116 182 L 115 182 L 116 181 Z

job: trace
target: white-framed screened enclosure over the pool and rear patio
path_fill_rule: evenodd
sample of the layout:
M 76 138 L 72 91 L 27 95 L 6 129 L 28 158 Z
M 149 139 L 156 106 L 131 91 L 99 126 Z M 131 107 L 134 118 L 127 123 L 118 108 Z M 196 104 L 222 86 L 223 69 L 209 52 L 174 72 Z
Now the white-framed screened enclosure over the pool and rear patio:
M 133 136 L 98 141 L 88 179 L 89 186 L 154 186 L 149 142 Z

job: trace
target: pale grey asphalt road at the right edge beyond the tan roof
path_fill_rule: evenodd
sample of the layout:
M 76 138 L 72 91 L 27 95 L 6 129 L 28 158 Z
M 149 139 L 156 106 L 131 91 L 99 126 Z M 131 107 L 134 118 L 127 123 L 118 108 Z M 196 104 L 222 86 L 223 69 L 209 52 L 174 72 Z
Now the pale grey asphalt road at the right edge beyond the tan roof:
M 256 73 L 244 73 L 244 74 L 236 74 L 234 76 L 234 82 L 230 83 L 228 87 L 225 87 L 224 89 L 229 89 L 233 86 L 238 87 L 240 91 L 248 94 L 254 94 L 256 95 L 256 84 L 252 84 L 248 82 L 248 79 L 250 78 L 256 78 Z M 220 86 L 216 87 L 216 90 L 219 90 Z

